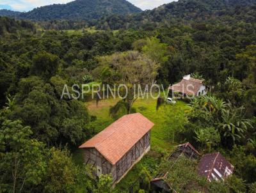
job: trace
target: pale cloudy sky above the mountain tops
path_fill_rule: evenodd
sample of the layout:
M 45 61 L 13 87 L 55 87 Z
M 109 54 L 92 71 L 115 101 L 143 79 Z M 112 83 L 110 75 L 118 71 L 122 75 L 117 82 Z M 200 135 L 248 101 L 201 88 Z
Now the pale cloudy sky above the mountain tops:
M 38 6 L 54 3 L 68 3 L 74 0 L 0 0 L 0 9 L 16 10 L 20 12 L 29 11 Z M 93 1 L 93 0 L 92 0 Z M 128 0 L 142 10 L 151 10 L 164 3 L 173 0 Z

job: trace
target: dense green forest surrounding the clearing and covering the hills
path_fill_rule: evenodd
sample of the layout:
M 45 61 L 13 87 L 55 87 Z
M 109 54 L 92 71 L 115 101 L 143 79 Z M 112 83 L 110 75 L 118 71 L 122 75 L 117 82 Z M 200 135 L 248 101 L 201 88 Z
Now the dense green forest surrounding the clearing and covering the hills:
M 173 172 L 168 180 L 178 192 L 256 192 L 256 1 L 180 0 L 108 17 L 94 3 L 99 10 L 74 17 L 58 12 L 60 5 L 24 13 L 38 20 L 99 19 L 90 22 L 0 17 L 0 192 L 121 192 L 111 189 L 111 176 L 97 178 L 74 161 L 77 147 L 106 120 L 84 105 L 91 95 L 61 98 L 63 85 L 72 90 L 74 84 L 153 80 L 167 89 L 189 73 L 204 79 L 211 93 L 186 101 L 189 110 L 175 117 L 175 105 L 170 112 L 163 107 L 164 123 L 177 125 L 167 140 L 189 141 L 203 153 L 220 151 L 234 174 L 209 183 L 186 158 L 172 168 L 159 148 L 152 149 L 143 174 Z M 140 12 L 119 3 L 123 9 L 109 4 L 108 14 Z M 74 13 L 71 5 L 65 4 Z M 81 30 L 60 30 L 67 28 Z M 138 111 L 129 94 L 109 109 L 113 120 Z M 147 178 L 140 192 L 149 191 Z

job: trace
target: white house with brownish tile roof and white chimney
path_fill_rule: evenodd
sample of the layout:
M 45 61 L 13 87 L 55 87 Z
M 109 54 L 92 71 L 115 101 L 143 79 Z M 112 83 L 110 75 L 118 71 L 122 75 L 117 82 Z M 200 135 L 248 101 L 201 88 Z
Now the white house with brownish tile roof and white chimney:
M 169 95 L 174 96 L 178 93 L 182 96 L 200 96 L 207 94 L 207 86 L 203 83 L 204 81 L 199 79 L 193 79 L 191 75 L 186 75 L 183 77 L 182 81 L 177 84 L 170 86 Z

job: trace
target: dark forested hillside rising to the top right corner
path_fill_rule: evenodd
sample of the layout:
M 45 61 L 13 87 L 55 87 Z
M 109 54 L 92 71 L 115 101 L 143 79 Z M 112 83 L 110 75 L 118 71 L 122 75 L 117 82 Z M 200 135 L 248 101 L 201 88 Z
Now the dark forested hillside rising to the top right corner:
M 136 15 L 111 15 L 96 23 L 99 29 L 154 29 L 189 22 L 230 22 L 253 19 L 255 0 L 180 0 Z

